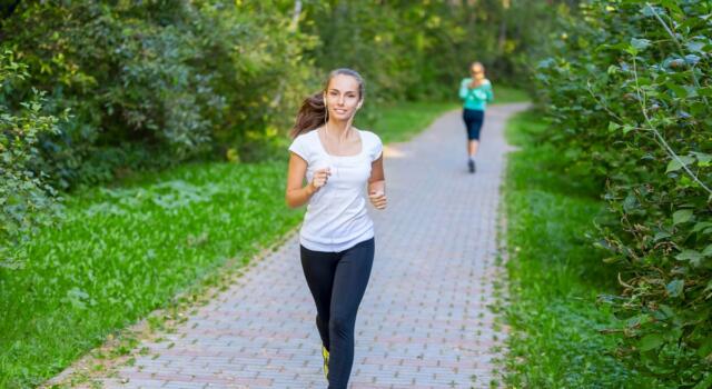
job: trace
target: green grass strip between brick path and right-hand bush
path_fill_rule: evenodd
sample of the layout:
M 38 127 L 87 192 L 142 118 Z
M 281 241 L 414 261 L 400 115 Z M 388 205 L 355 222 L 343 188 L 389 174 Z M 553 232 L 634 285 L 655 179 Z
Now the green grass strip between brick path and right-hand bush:
M 507 127 L 505 181 L 512 326 L 507 386 L 516 388 L 652 388 L 610 352 L 616 327 L 597 309 L 599 293 L 615 288 L 615 273 L 591 242 L 604 203 L 592 182 L 567 180 L 557 152 L 538 133 L 541 114 L 524 112 Z

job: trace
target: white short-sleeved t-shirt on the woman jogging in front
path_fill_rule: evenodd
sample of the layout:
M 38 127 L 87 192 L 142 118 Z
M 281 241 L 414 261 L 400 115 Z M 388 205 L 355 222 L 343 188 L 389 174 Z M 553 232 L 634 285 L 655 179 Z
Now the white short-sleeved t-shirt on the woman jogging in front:
M 366 212 L 366 184 L 370 164 L 380 157 L 377 134 L 357 130 L 362 150 L 356 156 L 330 156 L 317 131 L 298 136 L 289 151 L 307 162 L 307 181 L 314 172 L 332 168 L 327 183 L 309 199 L 299 232 L 301 246 L 313 251 L 338 252 L 374 237 L 374 223 Z

